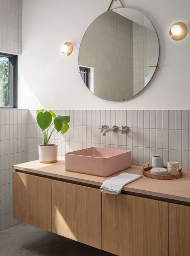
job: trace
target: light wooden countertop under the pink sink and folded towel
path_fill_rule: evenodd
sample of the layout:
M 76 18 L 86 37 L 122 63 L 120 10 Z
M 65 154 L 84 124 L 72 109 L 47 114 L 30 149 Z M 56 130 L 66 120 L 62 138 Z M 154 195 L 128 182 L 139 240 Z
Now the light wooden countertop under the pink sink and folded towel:
M 119 173 L 110 177 L 98 177 L 92 175 L 78 174 L 65 170 L 64 157 L 58 157 L 56 163 L 40 163 L 39 160 L 13 165 L 15 170 L 25 173 L 49 176 L 71 182 L 83 183 L 100 187 L 102 183 Z M 142 166 L 132 165 L 121 173 L 142 175 Z M 156 196 L 190 203 L 190 172 L 183 172 L 183 176 L 176 180 L 154 180 L 147 177 L 140 178 L 123 187 L 122 191 Z

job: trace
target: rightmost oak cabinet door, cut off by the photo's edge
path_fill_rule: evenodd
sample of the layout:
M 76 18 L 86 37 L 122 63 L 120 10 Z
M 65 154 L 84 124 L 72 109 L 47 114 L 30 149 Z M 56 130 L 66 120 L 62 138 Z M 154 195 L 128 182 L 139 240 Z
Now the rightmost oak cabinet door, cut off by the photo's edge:
M 169 256 L 190 255 L 190 207 L 169 203 Z

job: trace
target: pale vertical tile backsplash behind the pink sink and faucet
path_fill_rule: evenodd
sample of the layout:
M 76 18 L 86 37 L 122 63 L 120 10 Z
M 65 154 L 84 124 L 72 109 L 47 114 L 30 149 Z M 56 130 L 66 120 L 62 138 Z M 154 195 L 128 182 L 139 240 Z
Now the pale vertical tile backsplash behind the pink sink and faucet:
M 29 112 L 28 157 L 37 159 L 37 145 L 42 133 L 35 121 L 35 110 Z M 152 155 L 163 155 L 164 163 L 176 160 L 189 170 L 188 110 L 55 110 L 70 115 L 70 129 L 64 136 L 53 136 L 60 155 L 86 147 L 107 147 L 132 150 L 133 164 L 151 161 Z M 108 132 L 102 136 L 101 124 L 127 125 L 128 134 Z

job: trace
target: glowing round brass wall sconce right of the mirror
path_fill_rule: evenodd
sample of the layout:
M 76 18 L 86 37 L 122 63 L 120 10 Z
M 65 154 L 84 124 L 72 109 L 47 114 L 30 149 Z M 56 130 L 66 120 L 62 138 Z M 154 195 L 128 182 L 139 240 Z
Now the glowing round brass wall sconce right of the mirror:
M 187 34 L 187 26 L 183 22 L 176 22 L 170 28 L 170 37 L 173 40 L 181 40 Z

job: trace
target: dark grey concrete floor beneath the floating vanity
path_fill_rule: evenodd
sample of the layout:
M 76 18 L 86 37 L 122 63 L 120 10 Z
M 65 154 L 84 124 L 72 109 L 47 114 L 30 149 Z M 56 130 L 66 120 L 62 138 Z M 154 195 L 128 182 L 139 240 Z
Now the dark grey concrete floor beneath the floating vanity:
M 19 223 L 0 232 L 1 256 L 113 256 L 98 250 L 41 230 L 25 223 Z

